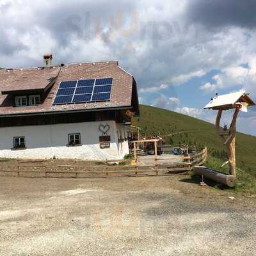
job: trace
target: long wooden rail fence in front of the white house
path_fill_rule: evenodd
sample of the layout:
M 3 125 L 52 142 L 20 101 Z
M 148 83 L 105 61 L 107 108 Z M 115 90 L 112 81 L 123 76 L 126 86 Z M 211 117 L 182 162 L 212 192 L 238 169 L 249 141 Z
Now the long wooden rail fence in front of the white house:
M 173 173 L 189 172 L 194 166 L 205 163 L 207 148 L 202 148 L 200 153 L 168 157 L 152 158 L 152 164 L 141 163 L 140 158 L 132 160 L 106 160 L 100 165 L 47 165 L 47 161 L 24 161 L 17 165 L 0 167 L 0 176 L 12 177 L 42 177 L 42 178 L 85 178 L 85 177 L 116 177 L 137 175 L 170 175 Z M 173 160 L 179 163 L 173 163 Z M 150 160 L 150 159 L 147 159 Z M 90 163 L 99 161 L 90 161 Z M 39 164 L 38 164 L 39 163 Z M 88 161 L 89 163 L 89 161 Z M 119 164 L 118 164 L 119 163 Z M 122 164 L 125 163 L 125 164 Z

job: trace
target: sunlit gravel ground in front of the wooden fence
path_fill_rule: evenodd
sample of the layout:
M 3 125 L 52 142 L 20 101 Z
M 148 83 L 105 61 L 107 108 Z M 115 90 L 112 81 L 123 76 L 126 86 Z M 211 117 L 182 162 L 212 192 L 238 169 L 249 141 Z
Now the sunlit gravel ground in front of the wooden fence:
M 186 176 L 1 177 L 0 255 L 250 256 L 255 205 Z

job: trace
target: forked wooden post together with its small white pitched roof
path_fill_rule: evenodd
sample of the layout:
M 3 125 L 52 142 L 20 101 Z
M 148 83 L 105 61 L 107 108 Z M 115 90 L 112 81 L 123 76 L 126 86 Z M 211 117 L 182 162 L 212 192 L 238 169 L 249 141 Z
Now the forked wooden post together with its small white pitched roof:
M 255 106 L 255 103 L 250 98 L 249 93 L 245 91 L 228 93 L 225 95 L 218 95 L 211 99 L 211 102 L 205 106 L 205 109 L 213 109 L 218 111 L 216 117 L 216 130 L 218 135 L 223 141 L 223 145 L 227 146 L 228 153 L 228 164 L 229 164 L 229 173 L 236 177 L 236 122 L 237 116 L 240 111 L 247 112 L 248 107 Z M 223 111 L 235 109 L 232 122 L 230 127 L 221 127 L 220 120 L 223 114 Z

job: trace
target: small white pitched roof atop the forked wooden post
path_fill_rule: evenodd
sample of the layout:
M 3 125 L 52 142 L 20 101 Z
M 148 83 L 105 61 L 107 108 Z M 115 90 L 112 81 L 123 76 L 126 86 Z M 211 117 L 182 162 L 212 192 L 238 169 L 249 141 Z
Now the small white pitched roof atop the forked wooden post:
M 249 106 L 255 105 L 252 99 L 246 94 L 246 91 L 217 95 L 205 106 L 205 109 L 234 108 L 237 102 L 247 102 Z

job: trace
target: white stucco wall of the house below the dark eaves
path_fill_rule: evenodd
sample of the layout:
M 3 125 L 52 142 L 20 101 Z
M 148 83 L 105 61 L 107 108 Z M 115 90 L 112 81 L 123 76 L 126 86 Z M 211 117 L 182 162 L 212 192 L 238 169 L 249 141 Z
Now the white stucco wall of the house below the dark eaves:
M 110 148 L 100 149 L 100 124 L 109 124 Z M 123 159 L 129 153 L 127 141 L 120 149 L 115 121 L 83 122 L 75 124 L 33 125 L 0 128 L 0 157 L 49 159 Z M 67 147 L 68 134 L 80 133 L 82 146 Z M 26 149 L 12 150 L 13 137 L 25 136 Z M 127 144 L 127 145 L 126 145 Z M 128 153 L 127 153 L 128 148 Z

